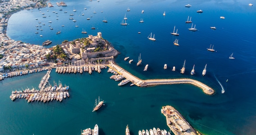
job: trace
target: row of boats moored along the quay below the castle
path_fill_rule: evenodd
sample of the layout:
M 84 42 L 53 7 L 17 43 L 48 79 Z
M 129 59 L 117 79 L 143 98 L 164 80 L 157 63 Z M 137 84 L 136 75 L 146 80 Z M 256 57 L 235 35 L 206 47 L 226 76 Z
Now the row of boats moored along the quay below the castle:
M 89 74 L 92 73 L 92 71 L 98 71 L 98 73 L 101 73 L 101 69 L 107 68 L 105 65 L 98 65 L 98 66 L 64 66 L 64 67 L 57 67 L 56 73 L 83 73 L 89 72 Z

